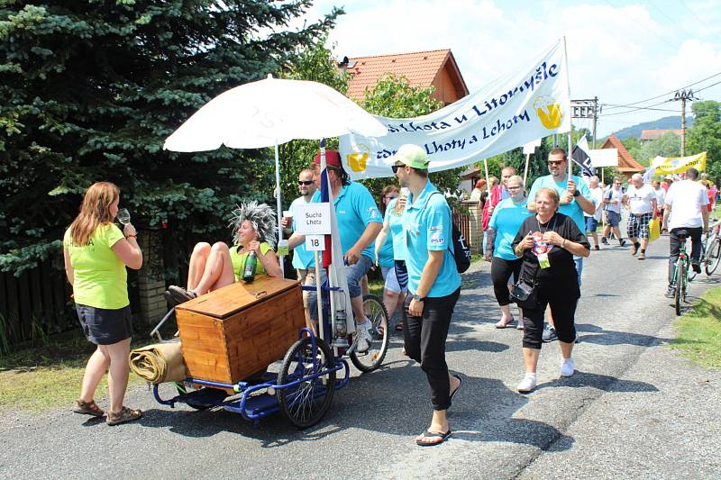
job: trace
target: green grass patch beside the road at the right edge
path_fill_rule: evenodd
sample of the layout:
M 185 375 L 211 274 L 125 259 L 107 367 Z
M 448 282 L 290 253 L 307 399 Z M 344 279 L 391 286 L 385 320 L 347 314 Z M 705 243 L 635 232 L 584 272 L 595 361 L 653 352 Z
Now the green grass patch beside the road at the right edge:
M 721 287 L 703 294 L 674 327 L 679 337 L 672 349 L 697 365 L 721 369 Z

